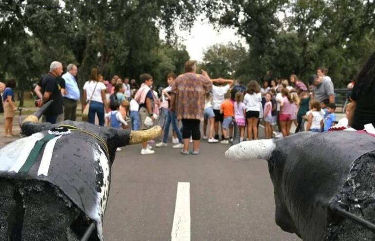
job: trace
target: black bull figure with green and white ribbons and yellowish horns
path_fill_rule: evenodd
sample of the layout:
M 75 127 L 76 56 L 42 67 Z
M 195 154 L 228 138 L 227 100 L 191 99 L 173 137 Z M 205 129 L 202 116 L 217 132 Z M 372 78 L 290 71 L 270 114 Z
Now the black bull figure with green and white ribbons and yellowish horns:
M 154 139 L 162 128 L 38 123 L 49 104 L 23 122 L 28 137 L 0 149 L 0 240 L 103 240 L 116 148 Z

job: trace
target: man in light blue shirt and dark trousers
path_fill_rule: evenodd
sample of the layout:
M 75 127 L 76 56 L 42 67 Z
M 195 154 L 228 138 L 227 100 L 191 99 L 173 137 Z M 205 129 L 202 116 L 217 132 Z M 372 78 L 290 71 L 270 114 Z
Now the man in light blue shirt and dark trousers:
M 66 70 L 67 72 L 62 75 L 62 79 L 65 80 L 65 93 L 62 96 L 62 103 L 64 105 L 64 121 L 76 121 L 77 103 L 81 98 L 80 89 L 78 88 L 76 80 L 78 68 L 75 64 L 70 63 Z

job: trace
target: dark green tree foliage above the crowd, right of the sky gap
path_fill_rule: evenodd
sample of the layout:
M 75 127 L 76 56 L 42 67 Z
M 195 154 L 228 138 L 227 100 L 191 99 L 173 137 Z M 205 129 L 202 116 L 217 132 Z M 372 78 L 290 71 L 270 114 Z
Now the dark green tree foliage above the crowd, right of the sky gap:
M 324 66 L 335 87 L 353 80 L 375 51 L 375 2 L 370 0 L 228 0 L 206 2 L 208 17 L 235 27 L 249 44 L 250 78 L 267 72 L 302 80 Z M 244 69 L 244 67 L 242 67 Z

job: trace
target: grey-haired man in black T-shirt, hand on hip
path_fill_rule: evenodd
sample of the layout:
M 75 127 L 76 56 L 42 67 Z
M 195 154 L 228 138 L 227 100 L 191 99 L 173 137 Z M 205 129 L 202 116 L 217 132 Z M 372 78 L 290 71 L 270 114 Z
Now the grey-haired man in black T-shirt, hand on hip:
M 61 89 L 65 88 L 65 81 L 59 81 L 62 75 L 62 64 L 53 61 L 49 73 L 38 83 L 42 87 L 42 104 L 53 100 L 52 105 L 44 113 L 46 121 L 52 124 L 56 123 L 57 117 L 62 114 L 62 95 Z M 60 78 L 60 79 L 59 79 Z M 61 85 L 62 84 L 62 85 Z

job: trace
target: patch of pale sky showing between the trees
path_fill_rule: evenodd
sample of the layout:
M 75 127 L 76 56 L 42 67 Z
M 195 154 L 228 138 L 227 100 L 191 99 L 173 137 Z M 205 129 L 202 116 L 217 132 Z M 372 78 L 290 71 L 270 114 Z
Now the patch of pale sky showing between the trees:
M 186 45 L 191 60 L 202 61 L 204 50 L 217 43 L 227 44 L 229 42 L 240 41 L 246 46 L 245 39 L 237 36 L 234 29 L 223 28 L 218 32 L 214 29 L 214 26 L 206 20 L 197 20 L 191 28 L 190 33 L 180 30 L 176 32 L 181 38 L 181 43 Z M 164 39 L 164 33 L 161 33 L 160 37 Z

